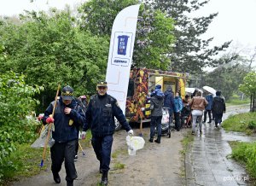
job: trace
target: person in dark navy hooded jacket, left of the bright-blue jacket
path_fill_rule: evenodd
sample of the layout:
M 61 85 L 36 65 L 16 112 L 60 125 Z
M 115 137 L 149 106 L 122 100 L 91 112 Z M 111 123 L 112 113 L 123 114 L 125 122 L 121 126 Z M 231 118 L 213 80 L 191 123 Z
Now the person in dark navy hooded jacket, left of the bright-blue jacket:
M 174 96 L 172 92 L 172 87 L 169 86 L 165 91 L 165 99 L 164 99 L 164 108 L 168 108 L 169 112 L 169 126 L 172 124 L 172 114 L 173 114 L 173 107 L 174 107 Z

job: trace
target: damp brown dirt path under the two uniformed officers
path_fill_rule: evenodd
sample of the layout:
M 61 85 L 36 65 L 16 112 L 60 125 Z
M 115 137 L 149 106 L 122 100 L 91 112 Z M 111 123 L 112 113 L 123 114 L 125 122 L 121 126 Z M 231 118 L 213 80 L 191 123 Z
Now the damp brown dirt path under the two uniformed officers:
M 134 129 L 135 136 L 140 131 Z M 108 185 L 184 185 L 184 177 L 181 175 L 183 170 L 183 150 L 181 140 L 183 131 L 173 131 L 172 137 L 162 137 L 161 143 L 148 142 L 149 127 L 143 128 L 143 138 L 145 145 L 143 149 L 137 151 L 135 156 L 130 156 L 127 152 L 125 131 L 118 131 L 113 137 L 113 150 L 115 154 L 110 164 L 108 175 Z M 75 186 L 98 185 L 101 180 L 99 173 L 99 162 L 96 160 L 93 148 L 84 148 L 85 157 L 79 154 L 79 160 L 76 162 L 78 179 L 74 181 Z M 50 160 L 49 160 L 50 162 Z M 116 168 L 116 165 L 122 165 L 124 168 Z M 19 182 L 12 183 L 15 186 L 46 186 L 46 185 L 66 185 L 64 164 L 60 172 L 61 183 L 56 184 L 53 180 L 50 167 L 41 171 L 34 177 L 21 179 Z

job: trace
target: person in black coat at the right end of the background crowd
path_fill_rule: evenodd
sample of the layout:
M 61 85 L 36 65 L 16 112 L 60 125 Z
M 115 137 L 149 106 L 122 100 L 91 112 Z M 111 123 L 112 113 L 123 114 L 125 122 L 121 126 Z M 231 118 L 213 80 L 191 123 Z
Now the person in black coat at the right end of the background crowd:
M 223 113 L 226 112 L 226 104 L 221 96 L 221 91 L 216 91 L 216 96 L 213 97 L 212 112 L 214 113 L 215 127 L 218 127 L 222 122 Z

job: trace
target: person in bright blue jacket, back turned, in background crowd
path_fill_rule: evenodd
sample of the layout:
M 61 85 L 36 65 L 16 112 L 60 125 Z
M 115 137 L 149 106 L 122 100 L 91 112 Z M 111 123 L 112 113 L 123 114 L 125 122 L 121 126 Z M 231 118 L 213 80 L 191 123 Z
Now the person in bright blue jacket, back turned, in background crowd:
M 177 92 L 174 98 L 174 119 L 175 119 L 175 129 L 180 131 L 180 116 L 183 109 L 183 101 L 180 97 L 180 93 Z

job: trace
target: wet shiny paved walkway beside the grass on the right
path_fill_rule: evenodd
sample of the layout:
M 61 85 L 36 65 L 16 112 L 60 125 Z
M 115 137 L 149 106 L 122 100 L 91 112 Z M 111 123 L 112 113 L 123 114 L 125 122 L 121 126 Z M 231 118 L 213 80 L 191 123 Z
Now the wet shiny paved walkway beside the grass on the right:
M 241 107 L 227 108 L 230 114 L 248 112 Z M 228 141 L 252 142 L 256 137 L 247 137 L 239 132 L 226 132 L 215 125 L 203 124 L 203 133 L 195 132 L 195 139 L 185 157 L 187 185 L 247 185 L 249 176 L 245 169 L 229 158 L 231 148 Z

